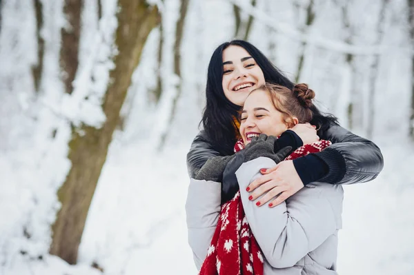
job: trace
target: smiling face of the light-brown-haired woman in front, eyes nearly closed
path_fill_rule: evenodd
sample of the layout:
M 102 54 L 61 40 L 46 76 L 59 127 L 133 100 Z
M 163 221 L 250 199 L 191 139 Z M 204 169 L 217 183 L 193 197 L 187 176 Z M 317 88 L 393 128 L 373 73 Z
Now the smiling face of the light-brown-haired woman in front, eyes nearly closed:
M 265 91 L 256 90 L 247 97 L 240 123 L 244 144 L 259 134 L 279 136 L 287 129 L 284 114 L 275 108 Z

